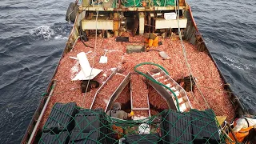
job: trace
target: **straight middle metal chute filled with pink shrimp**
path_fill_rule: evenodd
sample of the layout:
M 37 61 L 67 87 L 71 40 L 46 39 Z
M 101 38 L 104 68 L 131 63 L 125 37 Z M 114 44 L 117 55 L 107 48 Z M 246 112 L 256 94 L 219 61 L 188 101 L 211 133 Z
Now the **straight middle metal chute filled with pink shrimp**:
M 136 82 L 136 86 L 133 85 Z M 130 76 L 130 104 L 131 110 L 134 111 L 134 114 L 138 111 L 147 110 L 148 115 L 144 115 L 145 117 L 150 117 L 150 102 L 149 95 L 146 83 L 143 82 L 142 76 L 139 74 L 132 74 Z

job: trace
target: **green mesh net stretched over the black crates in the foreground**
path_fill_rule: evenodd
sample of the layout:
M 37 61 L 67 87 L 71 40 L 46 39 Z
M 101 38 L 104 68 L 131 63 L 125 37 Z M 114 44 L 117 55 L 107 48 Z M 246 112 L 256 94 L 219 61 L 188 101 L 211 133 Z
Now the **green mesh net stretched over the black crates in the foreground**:
M 74 102 L 56 103 L 38 137 L 40 144 L 225 142 L 212 110 L 164 110 L 142 120 L 121 120 Z

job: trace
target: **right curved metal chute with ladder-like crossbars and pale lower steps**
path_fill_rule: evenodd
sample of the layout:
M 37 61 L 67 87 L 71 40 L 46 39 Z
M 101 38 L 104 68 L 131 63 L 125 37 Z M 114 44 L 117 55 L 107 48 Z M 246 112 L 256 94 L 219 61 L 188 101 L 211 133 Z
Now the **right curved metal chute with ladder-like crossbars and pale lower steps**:
M 154 69 L 147 74 L 155 81 L 161 82 L 174 91 L 178 98 L 178 105 L 181 112 L 189 111 L 192 108 L 190 100 L 186 95 L 186 91 L 182 88 L 182 86 L 179 86 L 178 83 L 174 81 L 174 79 L 170 78 L 170 76 L 166 74 L 165 71 L 162 69 Z M 170 90 L 166 89 L 164 86 L 158 85 L 155 82 L 149 81 L 149 84 L 154 88 L 154 90 L 158 92 L 158 94 L 162 96 L 162 98 L 166 100 L 170 109 L 178 110 L 176 99 Z

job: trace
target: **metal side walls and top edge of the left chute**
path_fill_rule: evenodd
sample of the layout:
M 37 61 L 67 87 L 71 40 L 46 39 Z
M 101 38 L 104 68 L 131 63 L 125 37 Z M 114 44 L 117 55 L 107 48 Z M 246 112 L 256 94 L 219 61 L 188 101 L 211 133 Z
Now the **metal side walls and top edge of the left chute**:
M 106 79 L 106 82 L 108 82 L 111 78 L 114 77 L 115 74 L 122 75 L 124 79 L 122 82 L 118 85 L 118 87 L 114 90 L 114 93 L 110 95 L 110 98 L 108 99 L 108 102 L 106 104 L 106 107 L 103 108 L 104 111 L 106 112 L 107 110 L 111 109 L 111 106 L 113 106 L 114 101 L 118 98 L 118 95 L 121 94 L 122 90 L 126 87 L 126 85 L 130 82 L 130 73 L 127 75 L 119 74 L 117 73 L 118 69 L 114 70 L 112 74 L 110 74 L 109 78 Z M 98 94 L 102 90 L 102 88 L 106 85 L 106 82 L 102 84 L 102 86 L 99 87 L 97 90 L 96 94 L 94 95 L 93 102 L 90 105 L 90 109 L 93 108 L 95 99 L 97 98 Z

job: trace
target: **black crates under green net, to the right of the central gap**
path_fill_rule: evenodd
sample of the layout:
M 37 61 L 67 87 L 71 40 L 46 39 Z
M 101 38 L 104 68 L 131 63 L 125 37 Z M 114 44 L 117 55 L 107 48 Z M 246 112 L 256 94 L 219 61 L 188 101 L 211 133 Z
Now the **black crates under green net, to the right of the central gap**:
M 162 113 L 161 135 L 163 143 L 220 143 L 213 110 L 166 110 Z

